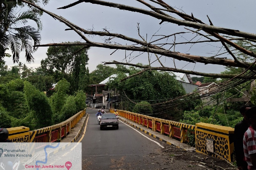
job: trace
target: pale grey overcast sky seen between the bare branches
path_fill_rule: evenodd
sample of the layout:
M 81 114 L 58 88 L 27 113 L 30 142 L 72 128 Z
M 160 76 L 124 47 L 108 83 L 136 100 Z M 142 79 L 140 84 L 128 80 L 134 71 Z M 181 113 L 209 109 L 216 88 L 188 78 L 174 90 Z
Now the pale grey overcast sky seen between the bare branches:
M 136 7 L 141 7 L 147 9 L 144 5 L 138 3 L 136 0 L 109 0 L 111 2 L 122 3 L 126 5 L 132 5 Z M 147 0 L 145 0 L 147 1 Z M 146 16 L 139 13 L 133 13 L 123 10 L 118 10 L 117 8 L 104 7 L 91 3 L 80 3 L 74 7 L 68 8 L 66 10 L 57 10 L 56 8 L 65 6 L 69 3 L 75 2 L 74 0 L 49 0 L 49 3 L 45 6 L 42 6 L 46 10 L 53 12 L 57 15 L 65 17 L 71 22 L 77 24 L 78 26 L 84 29 L 94 28 L 95 31 L 103 31 L 103 28 L 108 28 L 113 33 L 122 33 L 127 36 L 131 36 L 137 39 L 140 39 L 137 32 L 137 23 L 140 23 L 140 32 L 141 35 L 147 37 L 148 39 L 157 32 L 158 35 L 169 35 L 175 32 L 187 31 L 183 26 L 177 26 L 172 23 L 163 23 L 159 25 L 159 20 Z M 226 27 L 230 29 L 238 29 L 241 31 L 255 33 L 256 23 L 254 22 L 256 18 L 255 11 L 255 1 L 241 1 L 241 0 L 197 0 L 197 1 L 188 1 L 188 0 L 179 0 L 179 1 L 170 1 L 165 0 L 171 6 L 182 8 L 182 10 L 201 19 L 205 23 L 209 23 L 207 15 L 211 18 L 213 24 L 219 27 Z M 176 17 L 176 15 L 173 15 Z M 61 43 L 65 41 L 82 41 L 80 36 L 78 36 L 74 31 L 65 31 L 67 26 L 65 24 L 53 19 L 47 14 L 43 14 L 41 17 L 43 23 L 43 30 L 41 32 L 42 40 L 41 44 L 48 43 Z M 177 42 L 184 42 L 186 39 L 190 40 L 195 35 L 184 35 L 176 36 Z M 91 40 L 97 42 L 103 42 L 101 37 L 95 36 L 93 38 L 89 37 Z M 156 39 L 159 37 L 153 37 Z M 185 39 L 186 38 L 186 39 Z M 190 38 L 190 39 L 189 39 Z M 197 37 L 196 39 L 199 39 Z M 195 39 L 195 40 L 196 40 Z M 168 39 L 168 42 L 171 43 L 172 39 Z M 124 43 L 122 40 L 116 40 L 116 42 Z M 166 41 L 165 41 L 166 42 Z M 129 44 L 129 43 L 128 43 Z M 217 44 L 200 44 L 194 45 L 190 48 L 190 45 L 179 45 L 175 47 L 175 51 L 182 53 L 190 53 L 193 55 L 200 56 L 212 56 L 214 53 L 220 49 L 221 45 Z M 168 47 L 166 47 L 168 48 Z M 173 50 L 173 49 L 171 49 Z M 40 47 L 34 54 L 34 63 L 27 64 L 29 67 L 39 67 L 40 61 L 46 58 L 47 47 Z M 90 72 L 93 71 L 98 64 L 106 61 L 123 61 L 125 58 L 125 52 L 119 50 L 113 55 L 110 55 L 114 50 L 103 49 L 93 47 L 88 51 L 89 62 L 88 67 Z M 223 50 L 222 50 L 223 51 Z M 210 54 L 212 53 L 212 54 Z M 129 54 L 129 52 L 127 52 Z M 132 53 L 132 56 L 136 56 L 139 53 Z M 223 57 L 229 57 L 224 55 Z M 230 57 L 229 57 L 230 58 Z M 129 60 L 129 59 L 128 59 Z M 152 55 L 151 61 L 154 61 L 155 57 Z M 5 58 L 6 64 L 8 66 L 13 66 L 12 58 Z M 164 65 L 168 67 L 174 67 L 173 61 L 169 58 L 161 58 L 161 61 Z M 20 57 L 20 62 L 25 63 L 25 57 L 22 55 Z M 139 57 L 136 57 L 131 63 L 143 63 L 148 64 L 147 54 L 143 54 Z M 175 60 L 177 68 L 183 68 L 185 70 L 194 70 L 200 72 L 208 73 L 220 73 L 224 71 L 223 66 L 217 65 L 204 65 L 197 63 L 181 62 Z M 160 66 L 157 63 L 154 63 L 153 66 Z

